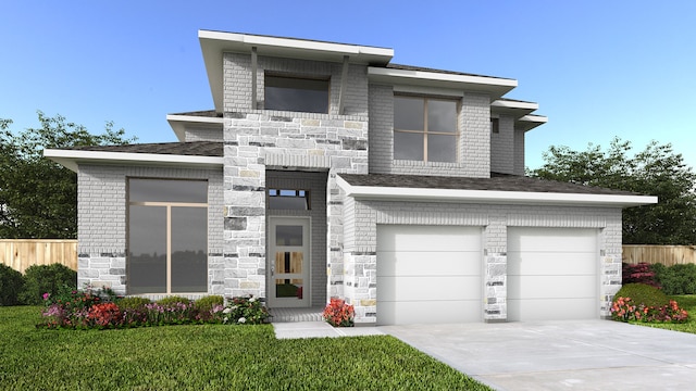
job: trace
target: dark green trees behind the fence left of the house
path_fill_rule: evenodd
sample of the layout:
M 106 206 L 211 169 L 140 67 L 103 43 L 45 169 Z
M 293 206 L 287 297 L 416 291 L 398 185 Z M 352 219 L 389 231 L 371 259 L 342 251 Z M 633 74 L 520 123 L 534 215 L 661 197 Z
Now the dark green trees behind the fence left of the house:
M 77 175 L 42 155 L 45 148 L 125 144 L 125 130 L 91 135 L 82 125 L 37 112 L 40 127 L 10 130 L 0 118 L 0 238 L 71 239 L 77 235 Z

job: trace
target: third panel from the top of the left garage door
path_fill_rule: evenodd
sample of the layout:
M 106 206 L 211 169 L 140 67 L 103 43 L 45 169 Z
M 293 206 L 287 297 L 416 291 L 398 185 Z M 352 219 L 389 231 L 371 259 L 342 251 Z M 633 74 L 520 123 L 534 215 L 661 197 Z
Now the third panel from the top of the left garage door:
M 377 300 L 481 300 L 480 276 L 377 277 Z

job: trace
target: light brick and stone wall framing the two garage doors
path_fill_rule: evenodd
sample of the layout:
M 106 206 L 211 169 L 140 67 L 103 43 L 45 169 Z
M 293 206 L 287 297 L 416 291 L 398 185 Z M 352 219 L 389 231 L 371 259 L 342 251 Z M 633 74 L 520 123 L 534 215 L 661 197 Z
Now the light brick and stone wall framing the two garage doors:
M 380 289 L 376 286 L 376 225 L 463 225 L 484 228 L 483 318 L 507 319 L 507 228 L 559 227 L 599 229 L 600 302 L 609 315 L 613 294 L 621 287 L 621 210 L 533 205 L 490 205 L 427 202 L 360 201 L 345 203 L 345 297 L 356 306 L 356 323 L 375 323 Z

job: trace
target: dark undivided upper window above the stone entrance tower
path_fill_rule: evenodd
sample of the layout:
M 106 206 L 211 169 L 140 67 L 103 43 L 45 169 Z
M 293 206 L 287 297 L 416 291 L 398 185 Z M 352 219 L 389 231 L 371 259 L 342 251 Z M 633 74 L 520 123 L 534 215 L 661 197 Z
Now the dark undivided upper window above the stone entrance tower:
M 265 75 L 264 109 L 328 113 L 328 79 Z

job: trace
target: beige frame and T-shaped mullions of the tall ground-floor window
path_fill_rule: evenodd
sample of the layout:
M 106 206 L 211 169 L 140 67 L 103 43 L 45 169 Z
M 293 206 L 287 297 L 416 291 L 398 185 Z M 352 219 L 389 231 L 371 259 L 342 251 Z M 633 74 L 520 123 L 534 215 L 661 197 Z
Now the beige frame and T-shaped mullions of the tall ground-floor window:
M 206 187 L 206 199 L 208 199 L 210 194 L 210 181 L 208 179 L 187 179 L 187 178 L 146 178 L 146 177 L 127 177 L 126 178 L 126 197 L 128 199 L 128 209 L 126 211 L 126 218 L 130 215 L 130 206 L 158 206 L 158 207 L 166 207 L 166 291 L 165 292 L 150 292 L 150 293 L 135 293 L 135 294 L 200 294 L 204 292 L 172 292 L 172 207 L 200 207 L 206 209 L 206 254 L 208 254 L 208 245 L 209 245 L 209 237 L 208 229 L 210 225 L 208 212 L 209 212 L 209 203 L 208 202 L 178 202 L 178 201 L 130 201 L 130 180 L 181 180 L 181 181 L 204 181 L 207 184 Z M 130 222 L 126 222 L 126 235 L 127 235 L 127 247 L 126 247 L 126 278 L 128 278 L 130 272 L 128 270 L 129 262 L 129 253 L 130 253 Z M 206 275 L 208 275 L 208 265 L 206 265 Z M 210 281 L 206 282 L 206 292 L 210 290 L 209 287 Z M 126 283 L 126 292 L 129 290 L 129 285 Z M 128 293 L 132 294 L 132 293 Z

